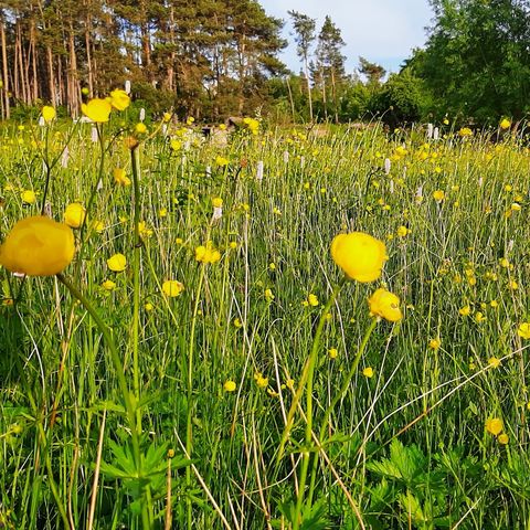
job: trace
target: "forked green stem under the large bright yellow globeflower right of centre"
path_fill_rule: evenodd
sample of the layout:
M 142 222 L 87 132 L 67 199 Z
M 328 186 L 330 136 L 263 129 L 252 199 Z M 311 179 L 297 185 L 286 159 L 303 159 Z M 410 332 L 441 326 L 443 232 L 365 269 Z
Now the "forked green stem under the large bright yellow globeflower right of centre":
M 328 301 L 326 303 L 326 306 L 324 307 L 322 314 L 320 315 L 320 320 L 318 322 L 317 331 L 315 333 L 315 339 L 312 341 L 312 348 L 311 352 L 309 354 L 309 358 L 306 362 L 306 367 L 304 368 L 304 372 L 301 375 L 301 380 L 298 385 L 298 390 L 295 394 L 295 399 L 293 401 L 293 405 L 289 410 L 289 415 L 287 416 L 287 425 L 284 431 L 284 436 L 282 439 L 282 445 L 280 449 L 283 448 L 283 445 L 285 445 L 285 441 L 287 439 L 288 432 L 290 432 L 292 425 L 293 425 L 293 418 L 294 414 L 296 411 L 296 407 L 298 405 L 299 398 L 301 398 L 301 393 L 304 391 L 304 386 L 307 381 L 307 392 L 306 392 L 306 441 L 305 441 L 305 451 L 301 456 L 301 469 L 300 469 L 300 477 L 299 477 L 299 483 L 298 483 L 298 497 L 296 500 L 296 508 L 295 508 L 295 520 L 293 521 L 293 530 L 298 530 L 299 523 L 300 523 L 300 511 L 301 511 L 301 506 L 304 504 L 304 496 L 305 496 L 305 489 L 306 489 L 306 480 L 307 480 L 307 469 L 309 466 L 309 447 L 311 445 L 311 436 L 312 436 L 312 380 L 315 375 L 315 365 L 317 363 L 318 359 L 318 352 L 320 350 L 320 339 L 322 336 L 324 331 L 324 326 L 327 321 L 327 316 L 331 309 L 331 306 L 335 304 L 335 300 L 337 299 L 337 296 L 339 295 L 342 286 L 346 283 L 346 278 L 342 278 L 339 284 L 337 284 L 333 288 L 333 292 L 331 293 L 331 296 L 329 297 Z M 298 400 L 297 400 L 298 396 Z M 287 434 L 286 434 L 287 433 Z M 284 439 L 285 438 L 285 439 Z

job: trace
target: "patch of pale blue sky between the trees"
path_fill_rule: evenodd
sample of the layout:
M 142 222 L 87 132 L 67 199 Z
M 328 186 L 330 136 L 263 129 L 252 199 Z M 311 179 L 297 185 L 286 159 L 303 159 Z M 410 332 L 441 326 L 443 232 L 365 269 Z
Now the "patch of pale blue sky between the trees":
M 413 47 L 425 43 L 425 26 L 433 12 L 427 0 L 259 0 L 267 14 L 283 19 L 289 46 L 282 60 L 294 72 L 300 68 L 293 28 L 287 11 L 317 19 L 317 33 L 327 14 L 340 28 L 346 41 L 347 72 L 359 64 L 359 55 L 398 72 Z

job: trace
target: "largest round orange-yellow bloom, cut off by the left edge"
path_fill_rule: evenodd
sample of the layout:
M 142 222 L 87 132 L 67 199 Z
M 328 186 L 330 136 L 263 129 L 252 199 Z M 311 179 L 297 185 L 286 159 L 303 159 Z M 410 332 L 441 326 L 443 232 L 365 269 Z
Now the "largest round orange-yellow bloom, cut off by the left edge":
M 74 234 L 70 226 L 44 215 L 19 221 L 0 246 L 0 265 L 11 273 L 53 276 L 72 262 Z

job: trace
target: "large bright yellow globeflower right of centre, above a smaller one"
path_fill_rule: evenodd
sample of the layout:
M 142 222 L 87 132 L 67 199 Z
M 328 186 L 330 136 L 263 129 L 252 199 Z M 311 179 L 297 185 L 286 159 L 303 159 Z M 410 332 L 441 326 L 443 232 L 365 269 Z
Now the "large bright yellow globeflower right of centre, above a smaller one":
M 362 232 L 335 236 L 331 257 L 350 279 L 358 282 L 378 279 L 388 259 L 384 243 Z

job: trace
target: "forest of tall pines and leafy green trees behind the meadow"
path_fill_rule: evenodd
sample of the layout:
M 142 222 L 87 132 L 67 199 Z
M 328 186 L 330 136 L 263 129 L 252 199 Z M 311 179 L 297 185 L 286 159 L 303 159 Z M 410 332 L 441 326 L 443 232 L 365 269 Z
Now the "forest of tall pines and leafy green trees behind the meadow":
M 451 115 L 469 124 L 529 112 L 530 0 L 431 0 L 423 49 L 385 76 L 369 59 L 347 72 L 340 28 L 327 17 L 268 15 L 255 0 L 8 0 L 0 2 L 1 112 L 42 104 L 76 116 L 83 98 L 129 80 L 151 112 L 219 121 L 390 125 Z M 296 41 L 300 71 L 278 55 Z M 374 28 L 377 31 L 377 28 Z

